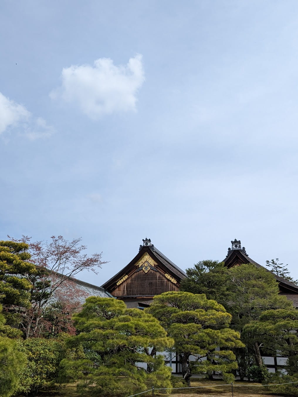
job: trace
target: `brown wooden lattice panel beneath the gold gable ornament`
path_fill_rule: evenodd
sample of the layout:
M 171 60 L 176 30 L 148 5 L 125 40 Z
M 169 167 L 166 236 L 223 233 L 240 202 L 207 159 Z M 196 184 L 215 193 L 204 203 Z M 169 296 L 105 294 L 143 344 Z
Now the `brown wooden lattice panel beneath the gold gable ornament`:
M 161 273 L 150 269 L 147 273 L 133 273 L 111 293 L 114 297 L 154 296 L 167 291 L 178 291 L 178 286 Z

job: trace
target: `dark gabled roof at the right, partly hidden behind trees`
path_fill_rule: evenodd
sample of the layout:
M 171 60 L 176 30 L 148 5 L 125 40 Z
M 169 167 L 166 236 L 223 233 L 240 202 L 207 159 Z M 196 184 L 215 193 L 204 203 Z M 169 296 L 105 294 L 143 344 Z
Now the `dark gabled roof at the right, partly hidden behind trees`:
M 232 266 L 238 266 L 243 263 L 245 263 L 245 264 L 252 263 L 257 268 L 263 268 L 263 269 L 266 269 L 268 272 L 270 272 L 269 269 L 258 264 L 258 262 L 255 262 L 247 255 L 247 252 L 245 251 L 245 247 L 241 248 L 240 240 L 235 239 L 234 241 L 231 241 L 231 243 L 232 243 L 232 249 L 231 248 L 228 249 L 228 255 L 223 260 L 224 264 L 228 268 L 230 268 Z M 277 276 L 274 273 L 272 273 L 272 274 L 276 278 L 277 282 L 279 283 L 279 289 L 282 294 L 285 294 L 285 295 L 298 294 L 298 285 L 292 283 L 291 281 L 284 279 L 283 277 Z

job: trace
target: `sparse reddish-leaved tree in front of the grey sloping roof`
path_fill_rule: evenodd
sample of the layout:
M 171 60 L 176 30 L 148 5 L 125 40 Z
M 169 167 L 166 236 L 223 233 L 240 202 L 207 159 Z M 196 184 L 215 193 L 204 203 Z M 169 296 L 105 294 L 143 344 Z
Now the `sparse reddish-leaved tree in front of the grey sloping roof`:
M 37 274 L 27 275 L 32 284 L 31 307 L 19 312 L 24 338 L 56 334 L 59 330 L 73 333 L 71 315 L 87 294 L 72 278 L 83 270 L 97 274 L 106 263 L 101 253 L 85 254 L 81 238 L 68 241 L 63 236 L 52 236 L 50 241 L 31 242 L 30 237 L 23 236 L 21 241 L 29 245 L 30 261 L 37 268 Z

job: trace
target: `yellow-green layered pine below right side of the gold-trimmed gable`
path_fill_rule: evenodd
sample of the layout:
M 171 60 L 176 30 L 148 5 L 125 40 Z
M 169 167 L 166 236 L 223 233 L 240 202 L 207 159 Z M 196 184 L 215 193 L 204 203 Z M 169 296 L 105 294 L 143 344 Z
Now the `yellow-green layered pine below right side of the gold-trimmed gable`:
M 232 316 L 204 294 L 165 292 L 154 297 L 146 309 L 175 341 L 182 376 L 190 386 L 192 374 L 216 371 L 226 381 L 237 368 L 232 349 L 243 347 L 239 332 L 229 328 Z

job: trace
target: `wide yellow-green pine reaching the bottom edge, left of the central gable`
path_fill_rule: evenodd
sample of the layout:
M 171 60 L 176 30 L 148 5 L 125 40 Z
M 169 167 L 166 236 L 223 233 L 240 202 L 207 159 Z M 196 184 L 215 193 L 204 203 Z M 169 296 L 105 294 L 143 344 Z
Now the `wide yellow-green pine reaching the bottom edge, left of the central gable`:
M 74 315 L 78 335 L 69 347 L 82 344 L 85 358 L 62 361 L 65 379 L 79 379 L 79 389 L 99 394 L 131 393 L 152 387 L 171 387 L 171 368 L 160 355 L 173 345 L 166 331 L 152 315 L 128 309 L 111 298 L 89 297 Z

